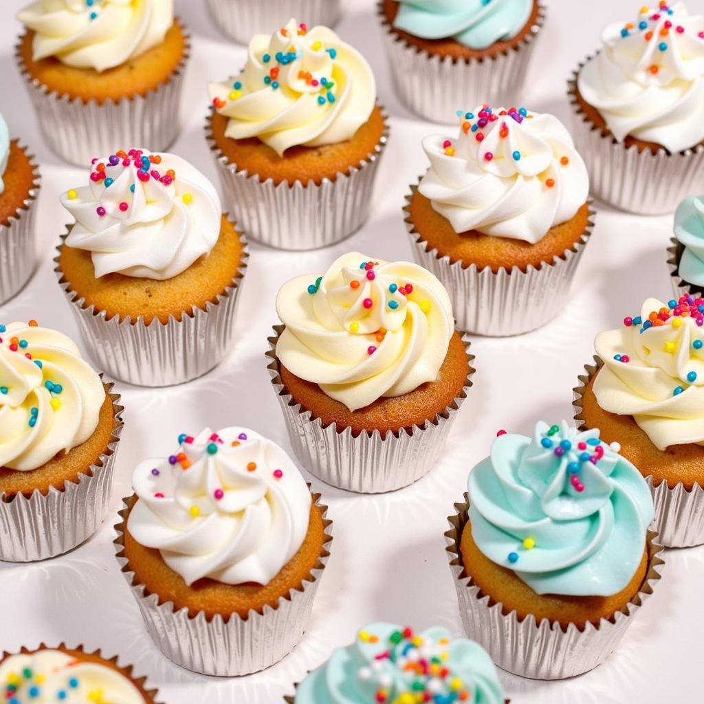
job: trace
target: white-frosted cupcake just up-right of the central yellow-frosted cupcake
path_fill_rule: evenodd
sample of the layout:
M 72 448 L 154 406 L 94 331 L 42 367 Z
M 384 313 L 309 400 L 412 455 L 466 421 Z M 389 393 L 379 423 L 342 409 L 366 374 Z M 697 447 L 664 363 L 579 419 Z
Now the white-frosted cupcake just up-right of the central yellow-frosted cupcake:
M 591 234 L 584 161 L 553 115 L 484 105 L 458 118 L 457 139 L 423 140 L 430 168 L 404 208 L 415 260 L 462 329 L 527 332 L 564 309 Z

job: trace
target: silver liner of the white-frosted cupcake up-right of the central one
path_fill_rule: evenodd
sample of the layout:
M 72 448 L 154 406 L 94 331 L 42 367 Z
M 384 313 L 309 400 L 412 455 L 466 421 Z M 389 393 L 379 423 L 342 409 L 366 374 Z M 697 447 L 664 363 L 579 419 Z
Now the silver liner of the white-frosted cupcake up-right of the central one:
M 403 208 L 413 257 L 447 289 L 459 327 L 480 335 L 519 335 L 560 315 L 593 229 L 596 213 L 591 201 L 586 230 L 562 256 L 543 262 L 538 269 L 529 266 L 523 271 L 514 266 L 510 271 L 501 267 L 494 272 L 490 267 L 479 270 L 476 264 L 465 267 L 461 261 L 452 262 L 449 256 L 441 256 L 437 249 L 428 249 L 429 245 L 410 220 L 410 199 L 416 190 L 417 186 L 411 187 Z

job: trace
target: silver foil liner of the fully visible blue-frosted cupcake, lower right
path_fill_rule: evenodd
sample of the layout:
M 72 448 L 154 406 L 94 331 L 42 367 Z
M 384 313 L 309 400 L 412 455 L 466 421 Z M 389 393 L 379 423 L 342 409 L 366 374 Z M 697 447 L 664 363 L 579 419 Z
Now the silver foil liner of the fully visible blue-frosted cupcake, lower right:
M 498 667 L 531 679 L 564 679 L 593 670 L 608 658 L 623 638 L 632 617 L 653 593 L 664 562 L 662 546 L 655 542 L 657 533 L 648 531 L 648 572 L 640 591 L 610 619 L 602 618 L 598 626 L 587 622 L 583 630 L 569 624 L 562 630 L 559 622 L 547 619 L 536 623 L 529 615 L 520 621 L 515 611 L 505 614 L 503 604 L 480 591 L 465 572 L 460 553 L 462 532 L 467 524 L 469 498 L 455 503 L 457 515 L 448 517 L 450 529 L 445 534 L 460 615 L 467 636 L 477 641 L 491 655 Z

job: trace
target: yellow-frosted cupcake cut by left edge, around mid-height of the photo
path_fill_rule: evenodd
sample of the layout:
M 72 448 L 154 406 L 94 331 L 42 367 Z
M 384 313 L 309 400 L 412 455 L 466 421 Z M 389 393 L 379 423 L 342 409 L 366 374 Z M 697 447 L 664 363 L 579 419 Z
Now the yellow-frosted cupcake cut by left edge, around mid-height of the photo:
M 61 332 L 0 325 L 0 560 L 53 558 L 100 527 L 122 432 L 112 388 Z

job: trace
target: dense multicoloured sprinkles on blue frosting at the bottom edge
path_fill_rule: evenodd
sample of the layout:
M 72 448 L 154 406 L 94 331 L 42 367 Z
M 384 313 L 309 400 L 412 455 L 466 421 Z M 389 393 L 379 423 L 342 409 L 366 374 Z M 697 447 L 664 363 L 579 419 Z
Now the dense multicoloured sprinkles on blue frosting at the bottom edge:
M 367 631 L 360 631 L 357 637 L 362 643 L 379 642 L 379 636 Z M 449 644 L 446 638 L 432 641 L 416 635 L 410 628 L 394 631 L 386 650 L 376 655 L 371 665 L 360 667 L 357 676 L 361 681 L 375 684 L 375 701 L 379 704 L 469 702 L 470 687 L 446 665 Z M 408 678 L 410 691 L 391 698 L 394 678 L 384 672 L 385 661 L 392 662 Z

